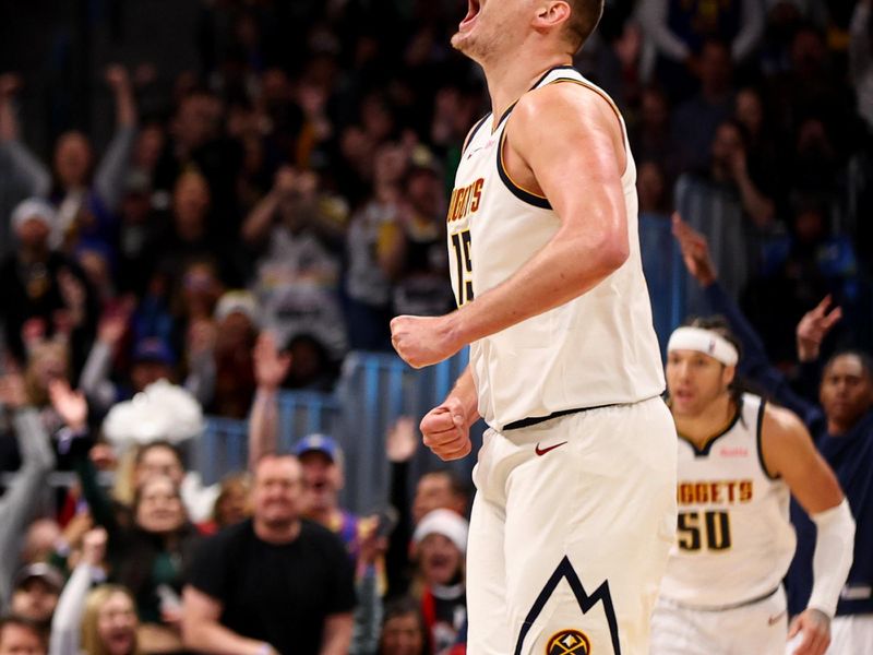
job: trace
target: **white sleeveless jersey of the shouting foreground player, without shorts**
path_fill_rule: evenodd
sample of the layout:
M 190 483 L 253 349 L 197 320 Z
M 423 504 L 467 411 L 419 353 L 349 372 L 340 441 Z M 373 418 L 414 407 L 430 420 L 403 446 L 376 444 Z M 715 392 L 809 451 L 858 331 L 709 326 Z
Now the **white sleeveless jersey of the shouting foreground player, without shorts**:
M 635 403 L 665 388 L 639 257 L 636 166 L 624 120 L 609 96 L 572 67 L 550 70 L 533 88 L 554 83 L 576 83 L 597 93 L 621 121 L 630 257 L 578 298 L 470 345 L 479 414 L 497 430 L 560 412 Z M 485 117 L 462 154 L 447 216 L 458 307 L 511 277 L 561 223 L 546 198 L 516 186 L 503 168 L 511 112 L 512 108 L 500 118 L 493 132 L 492 116 Z

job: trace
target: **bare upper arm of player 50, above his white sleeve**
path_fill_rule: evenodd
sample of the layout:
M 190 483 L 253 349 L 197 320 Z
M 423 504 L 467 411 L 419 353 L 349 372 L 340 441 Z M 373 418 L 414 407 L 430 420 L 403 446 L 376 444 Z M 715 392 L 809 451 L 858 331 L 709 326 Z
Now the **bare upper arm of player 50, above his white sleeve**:
M 788 409 L 768 406 L 762 426 L 764 463 L 770 475 L 781 476 L 808 514 L 842 502 L 834 472 L 818 454 L 800 419 Z

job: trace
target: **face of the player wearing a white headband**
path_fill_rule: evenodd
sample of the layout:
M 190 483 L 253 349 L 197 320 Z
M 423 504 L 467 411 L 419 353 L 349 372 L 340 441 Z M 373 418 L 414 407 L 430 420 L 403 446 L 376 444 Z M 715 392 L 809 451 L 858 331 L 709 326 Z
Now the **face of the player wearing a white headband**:
M 678 417 L 699 416 L 727 393 L 736 368 L 697 350 L 667 354 L 667 390 L 670 409 Z

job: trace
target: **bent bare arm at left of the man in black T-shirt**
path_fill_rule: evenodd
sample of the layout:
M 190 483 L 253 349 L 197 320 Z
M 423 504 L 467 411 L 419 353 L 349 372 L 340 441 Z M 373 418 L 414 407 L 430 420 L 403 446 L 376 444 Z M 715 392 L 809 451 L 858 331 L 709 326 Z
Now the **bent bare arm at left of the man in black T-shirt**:
M 218 622 L 222 604 L 212 596 L 188 585 L 183 603 L 182 639 L 187 648 L 215 655 L 265 654 L 264 642 L 240 636 Z

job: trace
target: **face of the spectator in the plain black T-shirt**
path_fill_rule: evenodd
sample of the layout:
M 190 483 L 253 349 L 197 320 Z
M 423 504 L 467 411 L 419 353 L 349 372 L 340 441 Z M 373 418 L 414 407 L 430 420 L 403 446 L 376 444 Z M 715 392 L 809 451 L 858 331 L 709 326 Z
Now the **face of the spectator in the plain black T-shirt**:
M 300 463 L 294 457 L 265 457 L 258 464 L 252 491 L 255 522 L 271 529 L 290 527 L 300 514 Z

